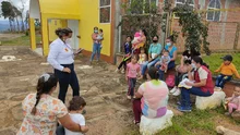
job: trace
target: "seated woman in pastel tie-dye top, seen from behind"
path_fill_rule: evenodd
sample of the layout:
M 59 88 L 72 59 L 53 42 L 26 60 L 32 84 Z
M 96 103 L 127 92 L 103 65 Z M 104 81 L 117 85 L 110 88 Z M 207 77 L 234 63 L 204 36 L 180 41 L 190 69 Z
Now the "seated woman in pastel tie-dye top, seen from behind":
M 160 118 L 167 112 L 168 87 L 165 82 L 158 79 L 157 69 L 152 66 L 147 73 L 147 82 L 142 84 L 135 93 L 133 112 L 135 124 L 140 123 L 141 115 L 146 118 Z

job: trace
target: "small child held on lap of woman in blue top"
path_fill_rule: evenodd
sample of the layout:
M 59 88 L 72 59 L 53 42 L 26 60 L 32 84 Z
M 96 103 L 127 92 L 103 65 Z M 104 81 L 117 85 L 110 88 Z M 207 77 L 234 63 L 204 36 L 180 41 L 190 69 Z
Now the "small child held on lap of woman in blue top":
M 171 58 L 169 56 L 169 51 L 164 49 L 163 51 L 163 56 L 160 58 L 160 70 L 161 71 L 165 71 L 165 73 L 167 72 L 168 70 L 168 63 L 170 62 Z

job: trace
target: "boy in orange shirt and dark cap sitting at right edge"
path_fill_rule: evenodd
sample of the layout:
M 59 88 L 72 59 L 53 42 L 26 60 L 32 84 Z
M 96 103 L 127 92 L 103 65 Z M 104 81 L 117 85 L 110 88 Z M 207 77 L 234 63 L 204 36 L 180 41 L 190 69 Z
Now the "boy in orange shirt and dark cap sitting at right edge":
M 220 68 L 218 68 L 215 72 L 220 74 L 217 76 L 215 86 L 219 89 L 224 88 L 226 82 L 232 78 L 235 74 L 237 78 L 240 78 L 240 75 L 232 63 L 232 57 L 230 54 L 225 56 L 221 58 L 224 62 L 221 63 Z

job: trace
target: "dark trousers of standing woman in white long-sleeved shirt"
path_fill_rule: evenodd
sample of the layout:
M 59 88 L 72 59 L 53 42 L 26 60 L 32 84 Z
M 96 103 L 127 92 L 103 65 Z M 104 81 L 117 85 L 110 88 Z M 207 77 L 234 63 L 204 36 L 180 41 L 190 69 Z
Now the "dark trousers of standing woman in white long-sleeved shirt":
M 62 100 L 62 102 L 65 102 L 65 95 L 69 85 L 72 87 L 73 96 L 80 96 L 80 85 L 74 71 L 74 64 L 62 64 L 62 66 L 69 68 L 71 70 L 71 73 L 65 73 L 59 70 L 55 70 L 55 75 L 59 79 L 59 87 L 60 87 L 58 98 Z

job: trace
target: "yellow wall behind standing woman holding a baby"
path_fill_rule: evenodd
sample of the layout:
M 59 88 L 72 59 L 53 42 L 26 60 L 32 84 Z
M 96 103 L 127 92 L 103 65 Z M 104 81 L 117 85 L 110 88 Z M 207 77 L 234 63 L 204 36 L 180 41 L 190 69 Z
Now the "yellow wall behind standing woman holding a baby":
M 110 56 L 110 24 L 99 23 L 99 0 L 79 0 L 80 1 L 80 47 L 87 51 L 93 50 L 93 40 L 91 35 L 94 27 L 97 26 L 104 30 L 104 41 L 101 54 Z

